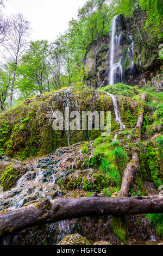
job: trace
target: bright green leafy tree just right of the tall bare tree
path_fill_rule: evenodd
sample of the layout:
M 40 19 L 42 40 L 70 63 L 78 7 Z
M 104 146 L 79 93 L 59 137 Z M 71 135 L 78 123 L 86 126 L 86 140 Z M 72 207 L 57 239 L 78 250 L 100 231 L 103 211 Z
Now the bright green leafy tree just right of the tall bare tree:
M 24 54 L 21 65 L 18 66 L 17 84 L 25 98 L 38 92 L 41 94 L 48 92 L 48 47 L 48 42 L 44 40 L 30 42 L 29 50 Z

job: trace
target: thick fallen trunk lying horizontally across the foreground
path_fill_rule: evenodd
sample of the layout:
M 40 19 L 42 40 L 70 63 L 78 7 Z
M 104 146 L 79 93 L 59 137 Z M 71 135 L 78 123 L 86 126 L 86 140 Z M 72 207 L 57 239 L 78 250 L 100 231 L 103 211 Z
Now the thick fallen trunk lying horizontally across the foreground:
M 0 234 L 43 223 L 58 222 L 69 218 L 103 215 L 134 215 L 163 212 L 163 196 L 152 197 L 84 197 L 43 200 L 16 210 L 0 212 Z

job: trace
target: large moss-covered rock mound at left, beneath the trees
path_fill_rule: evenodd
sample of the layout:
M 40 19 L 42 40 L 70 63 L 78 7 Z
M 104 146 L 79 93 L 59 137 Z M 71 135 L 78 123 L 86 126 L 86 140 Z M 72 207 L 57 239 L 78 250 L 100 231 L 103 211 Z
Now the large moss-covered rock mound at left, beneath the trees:
M 112 101 L 103 93 L 91 93 L 85 87 L 67 88 L 37 95 L 16 108 L 0 114 L 0 154 L 17 159 L 42 156 L 68 145 L 65 130 L 53 130 L 52 113 L 65 115 L 67 100 L 71 111 L 113 111 Z M 81 120 L 82 125 L 82 120 Z M 82 127 L 82 126 L 81 126 Z M 96 139 L 100 131 L 69 131 L 70 144 Z M 88 138 L 89 137 L 89 138 Z

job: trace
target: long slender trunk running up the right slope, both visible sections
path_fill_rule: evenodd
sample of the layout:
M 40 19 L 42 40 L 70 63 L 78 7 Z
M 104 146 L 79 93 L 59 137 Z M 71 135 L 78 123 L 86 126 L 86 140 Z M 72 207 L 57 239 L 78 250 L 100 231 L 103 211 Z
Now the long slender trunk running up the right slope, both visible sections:
M 143 104 L 146 101 L 147 94 L 143 93 L 141 96 L 141 100 Z M 143 118 L 144 118 L 144 106 L 139 109 L 138 113 L 138 120 L 136 125 L 136 142 L 139 142 L 141 140 L 141 129 L 143 124 Z M 139 153 L 135 151 L 134 149 L 131 150 L 131 161 L 129 162 L 127 168 L 124 170 L 122 184 L 120 191 L 114 193 L 113 197 L 128 197 L 129 196 L 129 190 L 131 183 L 133 182 L 135 174 L 137 174 L 140 170 L 139 166 Z

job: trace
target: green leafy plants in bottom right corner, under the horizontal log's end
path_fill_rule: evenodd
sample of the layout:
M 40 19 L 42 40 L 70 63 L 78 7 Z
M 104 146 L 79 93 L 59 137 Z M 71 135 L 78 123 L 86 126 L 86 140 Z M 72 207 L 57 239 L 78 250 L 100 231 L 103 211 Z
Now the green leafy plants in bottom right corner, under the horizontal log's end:
M 163 214 L 146 214 L 146 216 L 155 225 L 156 233 L 163 237 Z

